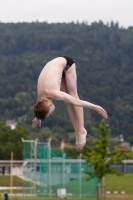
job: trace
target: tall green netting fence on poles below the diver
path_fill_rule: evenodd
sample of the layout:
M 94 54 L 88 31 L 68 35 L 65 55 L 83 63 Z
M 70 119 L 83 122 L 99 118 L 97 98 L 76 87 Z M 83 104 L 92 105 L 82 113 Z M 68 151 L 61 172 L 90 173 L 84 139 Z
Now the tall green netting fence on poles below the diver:
M 27 152 L 27 153 L 26 153 Z M 63 149 L 52 149 L 50 142 L 24 142 L 24 193 L 39 197 L 96 197 L 98 179 L 86 181 L 87 163 L 70 159 Z

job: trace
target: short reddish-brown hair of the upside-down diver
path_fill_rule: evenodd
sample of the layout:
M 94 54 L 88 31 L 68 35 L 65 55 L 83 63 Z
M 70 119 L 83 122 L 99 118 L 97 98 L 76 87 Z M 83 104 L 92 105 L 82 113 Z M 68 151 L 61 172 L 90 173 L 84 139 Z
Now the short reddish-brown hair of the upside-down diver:
M 40 120 L 44 120 L 49 113 L 49 109 L 48 100 L 43 98 L 35 103 L 34 116 Z

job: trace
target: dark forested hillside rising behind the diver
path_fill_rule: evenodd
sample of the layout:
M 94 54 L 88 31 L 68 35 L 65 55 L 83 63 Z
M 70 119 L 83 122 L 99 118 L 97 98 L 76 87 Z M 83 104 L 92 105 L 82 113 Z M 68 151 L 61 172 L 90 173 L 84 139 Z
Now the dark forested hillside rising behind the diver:
M 0 23 L 0 119 L 30 127 L 39 73 L 60 55 L 76 62 L 80 98 L 103 106 L 112 136 L 123 134 L 133 143 L 133 27 L 119 28 L 113 22 Z M 55 114 L 44 127 L 65 137 L 73 128 L 63 103 L 55 104 Z M 90 134 L 100 119 L 85 109 Z

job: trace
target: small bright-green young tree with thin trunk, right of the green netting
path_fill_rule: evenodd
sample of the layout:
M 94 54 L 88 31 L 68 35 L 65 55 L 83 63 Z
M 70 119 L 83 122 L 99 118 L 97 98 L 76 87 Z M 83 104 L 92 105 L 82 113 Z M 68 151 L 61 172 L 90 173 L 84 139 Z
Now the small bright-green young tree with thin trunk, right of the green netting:
M 83 158 L 87 161 L 88 166 L 94 167 L 94 172 L 84 171 L 84 173 L 89 175 L 87 180 L 98 177 L 100 187 L 102 188 L 102 179 L 104 176 L 107 174 L 122 174 L 113 168 L 112 165 L 120 163 L 123 159 L 130 159 L 132 152 L 122 146 L 118 146 L 110 152 L 111 138 L 109 138 L 109 133 L 111 129 L 107 127 L 105 120 L 102 119 L 99 127 L 94 128 L 94 131 L 98 134 L 99 138 L 94 140 L 93 146 L 87 146 L 83 153 Z

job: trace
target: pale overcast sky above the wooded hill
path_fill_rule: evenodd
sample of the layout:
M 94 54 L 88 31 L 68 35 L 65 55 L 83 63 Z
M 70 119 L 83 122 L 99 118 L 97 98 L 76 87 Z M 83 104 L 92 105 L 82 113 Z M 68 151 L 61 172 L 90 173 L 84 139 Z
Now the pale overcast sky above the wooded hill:
M 0 22 L 83 22 L 102 20 L 133 26 L 133 0 L 0 0 Z

